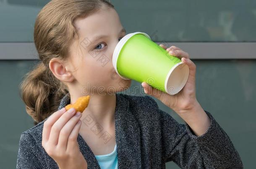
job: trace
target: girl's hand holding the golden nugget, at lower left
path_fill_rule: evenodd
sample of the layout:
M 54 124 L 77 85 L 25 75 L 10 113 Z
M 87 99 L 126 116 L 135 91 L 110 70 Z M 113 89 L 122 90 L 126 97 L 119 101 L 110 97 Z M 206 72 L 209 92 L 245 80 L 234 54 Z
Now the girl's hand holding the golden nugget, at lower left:
M 87 168 L 77 142 L 81 127 L 81 113 L 74 108 L 62 108 L 53 113 L 45 122 L 42 133 L 42 146 L 60 169 Z

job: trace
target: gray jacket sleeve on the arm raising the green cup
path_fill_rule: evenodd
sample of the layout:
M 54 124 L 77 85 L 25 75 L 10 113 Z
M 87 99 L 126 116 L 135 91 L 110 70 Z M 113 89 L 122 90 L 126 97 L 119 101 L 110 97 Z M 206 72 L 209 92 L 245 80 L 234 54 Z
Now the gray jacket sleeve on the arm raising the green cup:
M 160 109 L 165 162 L 174 161 L 183 169 L 243 169 L 241 158 L 229 136 L 208 112 L 211 124 L 196 136 L 187 123 L 179 124 Z

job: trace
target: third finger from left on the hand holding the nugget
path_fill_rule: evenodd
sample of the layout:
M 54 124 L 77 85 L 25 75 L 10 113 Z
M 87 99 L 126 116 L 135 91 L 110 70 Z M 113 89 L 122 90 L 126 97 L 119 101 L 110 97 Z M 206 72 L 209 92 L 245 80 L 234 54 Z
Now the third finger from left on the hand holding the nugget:
M 63 126 L 63 128 L 60 130 L 60 136 L 58 140 L 57 146 L 67 148 L 68 143 L 68 137 L 71 134 L 71 131 L 76 126 L 77 122 L 79 121 L 81 117 L 81 113 L 77 112 L 75 116 L 73 116 L 66 124 Z

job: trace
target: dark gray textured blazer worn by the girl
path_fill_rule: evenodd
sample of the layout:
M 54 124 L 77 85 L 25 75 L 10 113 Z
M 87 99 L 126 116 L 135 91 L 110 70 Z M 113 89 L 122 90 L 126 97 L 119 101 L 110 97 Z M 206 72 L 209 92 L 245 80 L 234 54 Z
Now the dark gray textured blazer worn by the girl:
M 58 109 L 69 103 L 68 93 Z M 115 139 L 118 168 L 165 169 L 166 162 L 174 161 L 183 169 L 242 169 L 242 161 L 229 136 L 213 116 L 205 112 L 211 125 L 205 134 L 196 136 L 188 124 L 179 124 L 159 109 L 150 96 L 117 93 Z M 81 120 L 89 122 L 86 118 Z M 17 169 L 58 169 L 42 147 L 44 121 L 21 134 Z M 103 131 L 96 130 L 96 134 L 99 137 L 102 134 L 106 141 L 109 139 Z M 88 168 L 99 169 L 97 159 L 80 134 L 77 141 Z

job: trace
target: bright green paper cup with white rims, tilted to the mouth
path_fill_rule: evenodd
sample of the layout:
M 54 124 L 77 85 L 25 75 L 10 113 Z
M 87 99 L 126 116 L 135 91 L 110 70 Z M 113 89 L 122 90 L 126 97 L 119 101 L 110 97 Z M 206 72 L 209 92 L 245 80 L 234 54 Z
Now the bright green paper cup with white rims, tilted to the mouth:
M 189 68 L 142 32 L 125 35 L 115 47 L 112 64 L 123 79 L 146 82 L 174 95 L 186 84 Z

